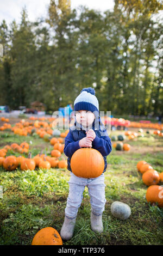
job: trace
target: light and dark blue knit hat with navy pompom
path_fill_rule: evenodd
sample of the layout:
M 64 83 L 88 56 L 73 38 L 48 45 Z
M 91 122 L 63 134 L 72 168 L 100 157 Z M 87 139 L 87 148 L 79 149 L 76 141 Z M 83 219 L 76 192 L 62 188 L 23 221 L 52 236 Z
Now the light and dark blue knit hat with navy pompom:
M 95 89 L 89 87 L 84 88 L 74 101 L 74 111 L 87 110 L 98 111 L 99 105 L 97 97 L 95 96 Z

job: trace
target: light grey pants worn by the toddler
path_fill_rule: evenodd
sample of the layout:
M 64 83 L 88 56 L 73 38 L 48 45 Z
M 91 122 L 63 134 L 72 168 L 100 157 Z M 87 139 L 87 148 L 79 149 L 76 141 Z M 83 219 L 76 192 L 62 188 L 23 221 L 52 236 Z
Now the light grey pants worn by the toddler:
M 65 208 L 65 215 L 68 218 L 76 218 L 78 208 L 80 207 L 83 199 L 83 192 L 87 186 L 91 210 L 95 215 L 101 215 L 105 209 L 105 184 L 104 173 L 101 176 L 93 179 L 79 178 L 71 172 L 69 184 L 69 194 L 67 198 L 67 205 Z

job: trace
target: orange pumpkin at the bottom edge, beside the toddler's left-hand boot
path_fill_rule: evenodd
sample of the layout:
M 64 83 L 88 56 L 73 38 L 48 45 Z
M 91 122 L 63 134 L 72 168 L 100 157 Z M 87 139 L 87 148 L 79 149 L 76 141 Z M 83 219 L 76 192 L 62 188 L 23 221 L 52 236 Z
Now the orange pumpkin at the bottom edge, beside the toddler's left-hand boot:
M 32 245 L 62 245 L 62 239 L 57 230 L 52 227 L 40 229 L 32 240 Z

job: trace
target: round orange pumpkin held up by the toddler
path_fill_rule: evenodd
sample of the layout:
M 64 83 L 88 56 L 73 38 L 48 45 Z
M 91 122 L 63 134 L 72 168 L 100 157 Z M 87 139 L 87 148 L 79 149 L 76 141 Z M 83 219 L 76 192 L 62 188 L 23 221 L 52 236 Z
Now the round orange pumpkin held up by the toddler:
M 71 157 L 71 169 L 74 175 L 82 178 L 96 178 L 103 173 L 104 159 L 98 150 L 80 148 Z

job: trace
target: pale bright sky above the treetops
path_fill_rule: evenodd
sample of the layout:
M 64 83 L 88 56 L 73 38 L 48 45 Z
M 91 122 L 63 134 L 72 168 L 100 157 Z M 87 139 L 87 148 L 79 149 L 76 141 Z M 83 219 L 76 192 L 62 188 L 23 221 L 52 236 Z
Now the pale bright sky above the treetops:
M 50 0 L 0 0 L 0 23 L 4 19 L 9 25 L 14 19 L 17 23 L 21 21 L 21 11 L 26 5 L 28 19 L 35 21 L 37 17 L 46 17 Z M 112 10 L 114 0 L 71 0 L 71 8 L 85 5 L 89 9 L 99 11 Z

